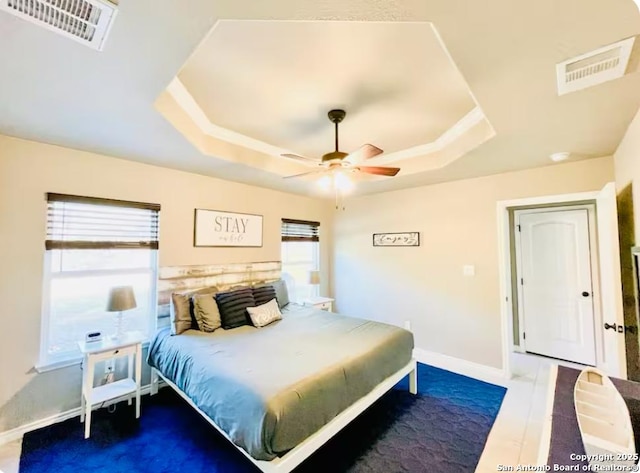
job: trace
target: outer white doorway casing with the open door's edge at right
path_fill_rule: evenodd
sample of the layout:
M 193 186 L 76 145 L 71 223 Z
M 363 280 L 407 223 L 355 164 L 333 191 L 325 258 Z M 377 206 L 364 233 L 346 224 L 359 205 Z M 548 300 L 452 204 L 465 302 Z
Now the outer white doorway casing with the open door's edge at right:
M 620 252 L 617 233 L 617 210 L 615 183 L 606 184 L 601 191 L 579 192 L 573 194 L 529 197 L 523 199 L 501 200 L 496 203 L 498 224 L 498 271 L 500 285 L 500 319 L 502 331 L 502 366 L 507 377 L 512 376 L 510 354 L 513 351 L 513 312 L 511 309 L 512 274 L 509 211 L 513 207 L 543 206 L 557 204 L 596 205 L 596 224 L 598 235 L 598 278 L 600 281 L 602 314 L 616 323 L 624 324 L 622 312 L 622 284 L 620 276 Z M 602 324 L 596 327 L 596 340 L 604 340 Z M 615 334 L 616 337 L 619 336 Z M 597 342 L 596 342 L 597 343 Z M 603 344 L 604 345 L 604 344 Z M 597 367 L 608 374 L 622 379 L 627 378 L 626 351 L 624 341 L 618 342 L 610 350 L 603 350 L 604 359 L 597 359 Z M 597 354 L 596 354 L 597 355 Z

